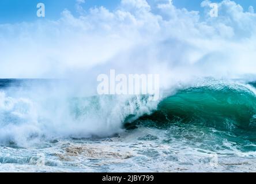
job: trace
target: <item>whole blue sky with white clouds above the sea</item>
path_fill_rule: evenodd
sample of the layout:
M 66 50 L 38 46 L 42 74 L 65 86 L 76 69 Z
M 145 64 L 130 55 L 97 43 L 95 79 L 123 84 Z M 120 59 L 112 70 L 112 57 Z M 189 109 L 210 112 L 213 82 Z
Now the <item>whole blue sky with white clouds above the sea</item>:
M 39 2 L 44 18 L 36 16 Z M 217 17 L 210 16 L 212 2 Z M 167 85 L 192 76 L 255 74 L 255 3 L 1 0 L 0 78 L 93 80 L 114 69 L 161 74 Z

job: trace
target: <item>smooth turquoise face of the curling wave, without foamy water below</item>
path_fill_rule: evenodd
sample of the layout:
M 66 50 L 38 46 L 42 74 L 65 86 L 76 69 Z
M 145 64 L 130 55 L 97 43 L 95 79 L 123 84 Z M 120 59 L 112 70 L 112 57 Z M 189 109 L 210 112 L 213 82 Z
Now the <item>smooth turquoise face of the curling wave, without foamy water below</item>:
M 238 137 L 256 141 L 255 114 L 256 96 L 247 87 L 192 87 L 165 98 L 150 116 L 143 116 L 126 127 L 143 124 L 166 128 L 172 124 L 191 124 L 198 128 L 235 133 Z

